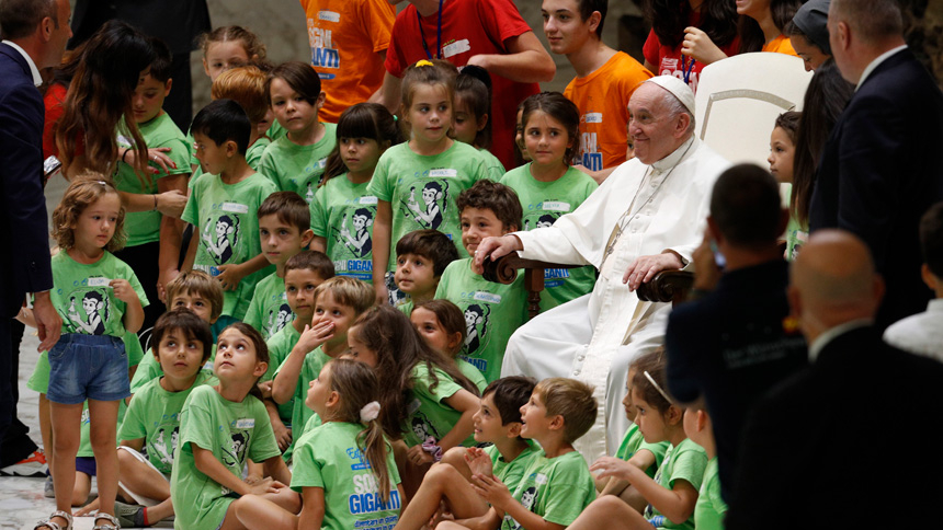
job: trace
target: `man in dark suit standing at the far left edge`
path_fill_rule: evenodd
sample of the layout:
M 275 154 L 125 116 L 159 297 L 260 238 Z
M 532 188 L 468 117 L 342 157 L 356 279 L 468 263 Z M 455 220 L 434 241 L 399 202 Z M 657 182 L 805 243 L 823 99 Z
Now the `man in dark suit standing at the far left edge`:
M 33 293 L 39 349 L 59 339 L 63 321 L 49 300 L 53 273 L 43 195 L 43 100 L 39 69 L 59 64 L 71 36 L 68 0 L 0 0 L 0 448 L 3 465 L 22 459 L 8 448 L 15 420 L 14 354 L 10 322 Z M 15 355 L 15 357 L 14 357 Z M 14 423 L 15 422 L 15 423 Z M 35 446 L 33 446 L 35 449 Z M 16 462 L 18 460 L 12 460 Z

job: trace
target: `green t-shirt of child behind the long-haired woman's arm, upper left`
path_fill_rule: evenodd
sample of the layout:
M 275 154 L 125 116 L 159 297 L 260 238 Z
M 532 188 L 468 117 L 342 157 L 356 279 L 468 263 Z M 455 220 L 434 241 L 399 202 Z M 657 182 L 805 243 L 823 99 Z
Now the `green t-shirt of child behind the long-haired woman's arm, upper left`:
M 118 160 L 117 172 L 114 177 L 116 188 L 122 192 L 140 195 L 156 194 L 158 193 L 157 181 L 159 178 L 168 175 L 190 173 L 190 146 L 186 143 L 186 137 L 183 136 L 183 132 L 170 119 L 169 114 L 161 113 L 146 124 L 138 124 L 137 127 L 149 149 L 159 147 L 170 148 L 170 151 L 163 154 L 177 164 L 177 169 L 168 166 L 166 173 L 161 170 L 156 175 L 148 175 L 150 182 L 141 183 L 140 178 L 134 172 L 134 166 Z M 132 147 L 132 142 L 121 135 L 118 136 L 117 143 L 122 149 Z M 158 170 L 160 169 L 152 161 L 148 165 Z M 124 218 L 124 229 L 127 232 L 126 246 L 137 246 L 160 239 L 160 219 L 161 215 L 159 211 L 134 211 L 126 214 Z

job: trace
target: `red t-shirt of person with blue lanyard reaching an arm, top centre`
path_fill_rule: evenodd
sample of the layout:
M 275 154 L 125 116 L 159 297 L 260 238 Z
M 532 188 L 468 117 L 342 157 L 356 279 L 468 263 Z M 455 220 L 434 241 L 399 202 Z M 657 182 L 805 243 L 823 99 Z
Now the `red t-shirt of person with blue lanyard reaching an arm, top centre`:
M 400 11 L 386 53 L 386 71 L 401 78 L 408 66 L 427 59 L 423 39 L 434 58 L 438 24 L 439 13 L 422 18 L 420 28 L 414 5 Z M 461 68 L 475 55 L 508 54 L 504 43 L 530 31 L 511 0 L 448 0 L 442 8 L 442 58 Z M 518 105 L 541 89 L 537 83 L 519 83 L 493 73 L 491 85 L 491 152 L 505 168 L 513 168 Z

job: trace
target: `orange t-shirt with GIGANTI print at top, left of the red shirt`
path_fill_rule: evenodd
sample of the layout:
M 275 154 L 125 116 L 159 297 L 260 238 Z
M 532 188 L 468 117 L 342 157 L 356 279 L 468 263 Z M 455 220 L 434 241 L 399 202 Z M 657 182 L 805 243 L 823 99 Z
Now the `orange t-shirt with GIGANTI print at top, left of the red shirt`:
M 383 84 L 383 58 L 389 47 L 396 8 L 386 0 L 300 0 L 308 19 L 311 66 L 321 78 L 321 122 L 338 123 L 349 106 Z

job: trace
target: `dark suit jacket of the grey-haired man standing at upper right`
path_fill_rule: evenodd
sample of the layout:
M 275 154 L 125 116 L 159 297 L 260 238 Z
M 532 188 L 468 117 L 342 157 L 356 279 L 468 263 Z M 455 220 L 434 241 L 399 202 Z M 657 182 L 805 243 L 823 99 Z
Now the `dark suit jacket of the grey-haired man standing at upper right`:
M 877 325 L 923 311 L 918 227 L 943 200 L 943 93 L 910 50 L 882 62 L 832 129 L 816 172 L 809 228 L 860 237 L 887 281 Z

